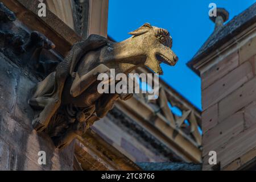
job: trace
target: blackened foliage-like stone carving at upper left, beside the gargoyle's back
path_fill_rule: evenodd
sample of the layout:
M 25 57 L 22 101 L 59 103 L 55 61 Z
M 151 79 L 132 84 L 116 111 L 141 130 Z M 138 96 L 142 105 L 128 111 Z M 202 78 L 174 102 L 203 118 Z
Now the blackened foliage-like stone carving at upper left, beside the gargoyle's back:
M 52 60 L 55 57 L 44 51 L 55 45 L 40 32 L 30 32 L 15 20 L 15 14 L 0 3 L 0 52 L 14 63 L 29 68 L 36 76 L 46 77 L 60 63 L 60 59 Z

